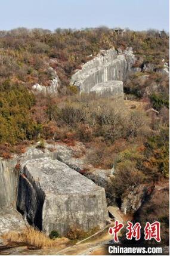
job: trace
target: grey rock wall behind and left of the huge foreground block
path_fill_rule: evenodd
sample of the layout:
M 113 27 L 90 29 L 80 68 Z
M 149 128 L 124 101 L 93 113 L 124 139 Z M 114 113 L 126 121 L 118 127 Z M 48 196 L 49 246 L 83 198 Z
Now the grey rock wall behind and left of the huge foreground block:
M 52 149 L 52 152 L 48 148 Z M 16 206 L 19 170 L 15 169 L 15 166 L 18 162 L 22 164 L 27 160 L 50 157 L 64 162 L 76 171 L 81 171 L 85 168 L 84 157 L 74 157 L 75 153 L 81 154 L 81 149 L 84 150 L 82 143 L 75 147 L 69 147 L 65 144 L 46 144 L 44 151 L 32 146 L 27 148 L 22 155 L 14 155 L 13 159 L 0 159 L 0 214 L 8 208 Z

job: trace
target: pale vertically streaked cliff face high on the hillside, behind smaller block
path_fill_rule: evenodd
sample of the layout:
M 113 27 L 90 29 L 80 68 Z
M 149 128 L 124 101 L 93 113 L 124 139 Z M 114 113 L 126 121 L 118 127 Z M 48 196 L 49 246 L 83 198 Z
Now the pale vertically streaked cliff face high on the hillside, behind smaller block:
M 72 76 L 71 82 L 79 88 L 81 93 L 94 91 L 92 88 L 100 84 L 98 92 L 103 94 L 102 84 L 105 87 L 104 83 L 108 81 L 124 81 L 134 61 L 131 48 L 119 55 L 115 49 L 101 51 L 97 57 L 85 63 L 82 69 Z M 120 95 L 122 95 L 121 91 L 120 89 Z M 114 90 L 112 95 L 116 95 Z

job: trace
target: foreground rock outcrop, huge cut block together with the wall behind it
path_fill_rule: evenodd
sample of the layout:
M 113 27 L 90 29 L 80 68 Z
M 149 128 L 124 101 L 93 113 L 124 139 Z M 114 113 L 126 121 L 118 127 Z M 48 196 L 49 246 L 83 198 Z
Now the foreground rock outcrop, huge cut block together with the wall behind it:
M 104 189 L 78 173 L 84 169 L 84 156 L 74 155 L 84 152 L 82 143 L 46 146 L 43 151 L 30 147 L 21 156 L 0 161 L 2 232 L 15 230 L 17 222 L 20 230 L 24 221 L 47 233 L 57 229 L 65 234 L 72 226 L 85 231 L 104 227 L 108 217 Z

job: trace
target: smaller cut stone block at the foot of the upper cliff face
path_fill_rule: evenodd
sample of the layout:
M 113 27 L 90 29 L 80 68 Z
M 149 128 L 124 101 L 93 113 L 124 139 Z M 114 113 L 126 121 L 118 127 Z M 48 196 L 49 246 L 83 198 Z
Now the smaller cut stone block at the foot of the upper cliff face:
M 123 82 L 122 81 L 107 81 L 91 88 L 91 92 L 104 97 L 123 97 Z

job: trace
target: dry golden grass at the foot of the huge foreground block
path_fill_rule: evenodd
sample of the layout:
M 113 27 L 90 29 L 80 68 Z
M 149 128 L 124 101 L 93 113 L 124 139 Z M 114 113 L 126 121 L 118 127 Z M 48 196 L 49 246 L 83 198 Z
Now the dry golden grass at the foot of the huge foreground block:
M 51 248 L 55 246 L 64 245 L 69 239 L 58 238 L 50 239 L 45 233 L 27 227 L 21 233 L 9 232 L 2 235 L 2 238 L 7 239 L 8 242 L 23 242 L 35 248 Z M 64 240 L 63 240 L 64 239 Z

